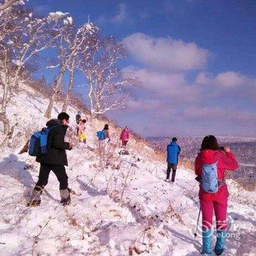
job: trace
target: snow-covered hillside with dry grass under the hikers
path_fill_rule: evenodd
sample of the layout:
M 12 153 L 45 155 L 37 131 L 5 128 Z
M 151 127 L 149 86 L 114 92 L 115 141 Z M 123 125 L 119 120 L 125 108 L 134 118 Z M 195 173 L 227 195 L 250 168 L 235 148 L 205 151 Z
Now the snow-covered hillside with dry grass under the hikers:
M 88 145 L 76 143 L 67 152 L 72 203 L 60 205 L 59 182 L 51 173 L 41 206 L 26 207 L 39 164 L 18 151 L 29 132 L 45 126 L 47 102 L 23 86 L 8 106 L 8 116 L 18 127 L 9 142 L 14 149 L 0 151 L 1 256 L 199 255 L 201 238 L 193 236 L 199 210 L 194 174 L 180 166 L 176 182 L 166 183 L 165 162 L 143 141 L 133 137 L 129 154 L 119 154 L 120 129 L 111 124 L 114 138 L 102 148 L 95 132 L 102 129 L 103 121 L 89 119 Z M 59 110 L 61 104 L 52 116 Z M 77 111 L 67 111 L 71 127 Z M 72 131 L 67 140 L 72 140 Z M 230 232 L 225 255 L 256 255 L 256 193 L 232 180 L 227 184 Z

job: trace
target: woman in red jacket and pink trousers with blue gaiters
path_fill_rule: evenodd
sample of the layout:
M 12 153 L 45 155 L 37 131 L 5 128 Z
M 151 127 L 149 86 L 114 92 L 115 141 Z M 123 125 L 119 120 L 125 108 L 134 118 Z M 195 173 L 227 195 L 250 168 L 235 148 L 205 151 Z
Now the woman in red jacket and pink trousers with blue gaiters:
M 203 139 L 200 153 L 195 159 L 195 174 L 197 178 L 202 176 L 202 166 L 217 163 L 217 181 L 219 188 L 217 192 L 210 193 L 203 189 L 200 183 L 199 199 L 202 210 L 202 230 L 203 230 L 203 253 L 211 254 L 211 226 L 213 212 L 215 212 L 217 222 L 217 242 L 214 252 L 221 255 L 224 251 L 225 237 L 227 233 L 227 184 L 225 184 L 225 171 L 236 170 L 238 162 L 230 147 L 225 146 L 220 150 L 217 138 L 208 135 Z

